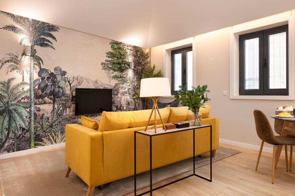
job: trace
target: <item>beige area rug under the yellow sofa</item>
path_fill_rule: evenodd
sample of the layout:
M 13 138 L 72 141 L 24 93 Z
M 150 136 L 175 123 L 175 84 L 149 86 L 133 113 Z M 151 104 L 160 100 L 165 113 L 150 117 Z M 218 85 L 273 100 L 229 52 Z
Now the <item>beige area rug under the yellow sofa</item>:
M 212 162 L 240 152 L 220 147 Z M 154 169 L 153 184 L 191 171 L 192 161 L 190 158 Z M 209 161 L 209 153 L 203 154 L 201 158 L 196 157 L 196 168 L 207 165 Z M 0 160 L 2 194 L 3 196 L 85 196 L 87 185 L 73 172 L 65 178 L 66 169 L 64 148 L 2 159 Z M 138 190 L 149 186 L 149 175 L 149 172 L 137 175 Z M 134 177 L 131 176 L 107 183 L 101 190 L 95 188 L 93 196 L 122 196 L 133 191 Z

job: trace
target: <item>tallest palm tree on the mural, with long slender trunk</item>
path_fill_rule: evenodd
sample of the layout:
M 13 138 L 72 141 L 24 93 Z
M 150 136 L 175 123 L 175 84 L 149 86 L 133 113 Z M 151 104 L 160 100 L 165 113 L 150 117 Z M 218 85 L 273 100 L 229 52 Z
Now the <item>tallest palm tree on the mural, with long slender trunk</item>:
M 42 22 L 34 19 L 29 19 L 15 14 L 10 14 L 5 11 L 0 11 L 6 17 L 9 17 L 17 26 L 14 24 L 8 24 L 0 29 L 14 32 L 15 34 L 24 36 L 20 40 L 20 45 L 31 45 L 31 56 L 30 56 L 30 148 L 34 148 L 34 60 L 36 60 L 35 46 L 43 48 L 53 47 L 53 43 L 47 39 L 51 38 L 56 42 L 56 38 L 51 32 L 58 32 L 59 27 Z

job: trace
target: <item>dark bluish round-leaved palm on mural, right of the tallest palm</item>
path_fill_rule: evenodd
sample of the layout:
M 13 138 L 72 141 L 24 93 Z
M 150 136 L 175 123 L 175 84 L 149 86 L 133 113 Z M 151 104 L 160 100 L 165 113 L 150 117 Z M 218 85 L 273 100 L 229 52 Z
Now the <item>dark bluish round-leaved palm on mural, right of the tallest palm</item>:
M 52 113 L 55 113 L 55 99 L 65 95 L 67 78 L 64 76 L 67 72 L 63 71 L 59 66 L 54 67 L 53 71 L 42 68 L 38 72 L 40 78 L 34 80 L 34 88 L 38 86 L 38 89 L 45 91 L 46 95 L 52 95 Z

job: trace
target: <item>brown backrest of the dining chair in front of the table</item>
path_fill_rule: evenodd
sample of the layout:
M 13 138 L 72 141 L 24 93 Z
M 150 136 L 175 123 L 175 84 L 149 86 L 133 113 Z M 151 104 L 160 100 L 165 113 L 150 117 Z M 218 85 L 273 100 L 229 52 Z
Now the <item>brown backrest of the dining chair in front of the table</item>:
M 254 110 L 253 113 L 258 137 L 268 144 L 277 144 L 271 124 L 269 123 L 265 114 L 260 110 Z

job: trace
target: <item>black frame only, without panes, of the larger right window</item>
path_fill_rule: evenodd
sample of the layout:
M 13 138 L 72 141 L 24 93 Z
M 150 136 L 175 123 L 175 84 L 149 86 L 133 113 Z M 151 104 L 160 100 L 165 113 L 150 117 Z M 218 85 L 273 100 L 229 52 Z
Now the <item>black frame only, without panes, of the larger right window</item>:
M 269 89 L 268 36 L 286 32 L 286 89 Z M 289 95 L 288 24 L 239 36 L 239 95 Z M 245 90 L 245 40 L 259 37 L 259 89 Z

